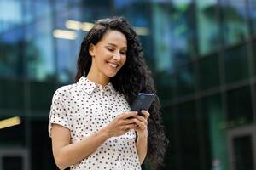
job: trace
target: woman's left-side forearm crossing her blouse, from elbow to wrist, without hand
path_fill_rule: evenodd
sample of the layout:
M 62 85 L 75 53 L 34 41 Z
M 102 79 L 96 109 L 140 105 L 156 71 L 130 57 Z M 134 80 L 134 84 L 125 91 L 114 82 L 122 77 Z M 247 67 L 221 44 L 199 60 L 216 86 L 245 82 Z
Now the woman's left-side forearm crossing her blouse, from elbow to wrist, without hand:
M 56 156 L 58 167 L 65 169 L 90 156 L 108 138 L 108 133 L 101 129 L 88 137 L 84 137 L 81 141 L 61 148 Z

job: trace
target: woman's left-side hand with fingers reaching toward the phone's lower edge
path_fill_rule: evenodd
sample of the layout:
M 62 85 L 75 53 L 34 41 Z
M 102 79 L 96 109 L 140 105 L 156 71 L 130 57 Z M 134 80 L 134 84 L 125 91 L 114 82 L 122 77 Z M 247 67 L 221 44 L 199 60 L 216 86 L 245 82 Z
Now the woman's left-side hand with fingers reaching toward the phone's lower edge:
M 127 133 L 131 128 L 137 126 L 136 118 L 133 116 L 137 115 L 137 111 L 124 112 L 121 115 L 115 117 L 112 122 L 110 122 L 104 131 L 108 133 L 108 137 L 120 136 Z M 130 118 L 131 117 L 131 118 Z

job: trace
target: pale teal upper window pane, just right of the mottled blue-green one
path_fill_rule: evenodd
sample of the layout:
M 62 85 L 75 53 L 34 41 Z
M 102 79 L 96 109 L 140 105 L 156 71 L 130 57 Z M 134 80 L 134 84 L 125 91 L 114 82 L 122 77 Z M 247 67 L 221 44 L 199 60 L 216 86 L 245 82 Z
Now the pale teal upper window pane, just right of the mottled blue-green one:
M 217 0 L 196 0 L 197 39 L 201 56 L 219 48 L 217 3 Z

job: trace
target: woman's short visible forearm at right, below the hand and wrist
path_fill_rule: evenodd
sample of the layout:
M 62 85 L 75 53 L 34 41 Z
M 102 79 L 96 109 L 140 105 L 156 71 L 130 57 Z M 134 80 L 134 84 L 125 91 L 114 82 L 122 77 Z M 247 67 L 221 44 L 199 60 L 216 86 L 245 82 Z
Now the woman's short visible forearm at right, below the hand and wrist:
M 148 151 L 148 134 L 137 137 L 137 154 L 139 157 L 139 161 L 143 164 L 143 161 L 147 155 Z

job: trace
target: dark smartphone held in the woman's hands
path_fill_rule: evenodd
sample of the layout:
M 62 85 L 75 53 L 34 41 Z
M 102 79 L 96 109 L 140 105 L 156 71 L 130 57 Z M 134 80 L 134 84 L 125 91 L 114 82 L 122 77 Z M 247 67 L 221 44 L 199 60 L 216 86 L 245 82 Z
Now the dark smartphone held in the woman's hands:
M 137 111 L 139 116 L 144 116 L 142 110 L 148 111 L 154 100 L 154 94 L 137 94 L 137 98 L 131 105 L 131 111 Z

